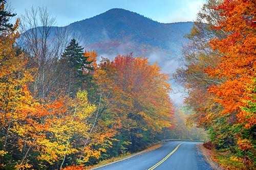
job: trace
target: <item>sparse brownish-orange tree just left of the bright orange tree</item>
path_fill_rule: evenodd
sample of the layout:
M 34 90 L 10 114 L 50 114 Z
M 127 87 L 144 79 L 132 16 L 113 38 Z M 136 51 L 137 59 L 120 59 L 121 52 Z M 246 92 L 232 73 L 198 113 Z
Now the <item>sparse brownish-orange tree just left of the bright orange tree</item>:
M 197 20 L 190 33 L 186 35 L 189 42 L 183 47 L 184 67 L 178 68 L 174 78 L 184 85 L 187 90 L 185 103 L 193 110 L 194 114 L 188 116 L 188 125 L 197 123 L 198 127 L 208 130 L 214 126 L 220 127 L 221 105 L 214 101 L 207 89 L 214 84 L 221 84 L 222 79 L 212 78 L 207 75 L 205 69 L 215 66 L 220 62 L 218 53 L 212 51 L 209 41 L 214 37 L 225 37 L 222 30 L 212 30 L 219 20 L 223 18 L 218 11 L 212 10 L 218 5 L 218 1 L 208 1 L 199 11 Z M 226 124 L 225 119 L 222 125 Z M 227 146 L 226 140 L 219 140 L 217 130 L 211 131 L 212 142 Z M 220 142 L 221 141 L 221 142 Z

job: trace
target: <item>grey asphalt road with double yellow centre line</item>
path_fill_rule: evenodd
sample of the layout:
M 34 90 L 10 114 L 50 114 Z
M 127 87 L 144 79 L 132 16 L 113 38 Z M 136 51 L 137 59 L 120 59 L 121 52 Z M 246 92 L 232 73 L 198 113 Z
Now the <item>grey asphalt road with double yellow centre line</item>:
M 181 144 L 180 144 L 181 143 Z M 210 170 L 212 169 L 203 159 L 196 148 L 198 142 L 172 141 L 166 142 L 162 147 L 145 152 L 129 159 L 111 163 L 97 170 Z

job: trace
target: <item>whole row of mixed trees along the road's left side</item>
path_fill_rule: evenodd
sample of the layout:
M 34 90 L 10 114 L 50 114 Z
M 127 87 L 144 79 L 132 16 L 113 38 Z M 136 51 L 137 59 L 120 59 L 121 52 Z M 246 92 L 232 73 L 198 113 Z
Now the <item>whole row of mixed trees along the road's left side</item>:
M 5 4 L 0 1 L 1 169 L 81 168 L 145 149 L 172 125 L 171 88 L 159 66 L 132 55 L 97 64 L 96 52 L 67 41 L 65 29 L 52 34 L 46 9 L 32 9 L 26 23 L 11 25 L 14 14 Z M 22 39 L 18 26 L 27 30 Z

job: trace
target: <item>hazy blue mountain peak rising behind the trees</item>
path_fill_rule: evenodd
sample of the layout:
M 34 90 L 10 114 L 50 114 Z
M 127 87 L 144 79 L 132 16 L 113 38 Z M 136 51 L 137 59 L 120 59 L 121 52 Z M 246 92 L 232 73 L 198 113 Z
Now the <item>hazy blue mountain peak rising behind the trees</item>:
M 138 13 L 111 9 L 67 28 L 81 37 L 88 50 L 98 54 L 148 56 L 155 52 L 179 55 L 183 37 L 193 22 L 159 23 Z M 177 51 L 178 50 L 178 51 Z M 175 57 L 175 56 L 173 56 Z

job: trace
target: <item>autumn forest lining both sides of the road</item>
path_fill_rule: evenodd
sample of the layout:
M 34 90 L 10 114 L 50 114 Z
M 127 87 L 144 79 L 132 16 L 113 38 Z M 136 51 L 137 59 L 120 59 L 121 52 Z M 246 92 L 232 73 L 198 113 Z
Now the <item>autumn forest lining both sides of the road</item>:
M 6 5 L 0 169 L 83 169 L 164 138 L 207 139 L 195 126 L 222 167 L 255 169 L 254 1 L 207 0 L 198 12 L 173 75 L 187 91 L 179 109 L 157 63 L 132 53 L 99 59 L 65 29 L 51 36 L 45 8 L 12 24 Z

